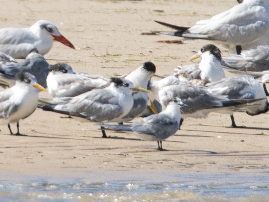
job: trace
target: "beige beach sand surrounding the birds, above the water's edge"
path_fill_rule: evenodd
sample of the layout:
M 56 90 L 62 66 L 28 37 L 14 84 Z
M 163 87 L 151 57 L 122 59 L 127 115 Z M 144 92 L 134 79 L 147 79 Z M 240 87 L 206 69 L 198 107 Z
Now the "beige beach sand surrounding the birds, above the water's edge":
M 191 50 L 208 41 L 184 44 L 158 43 L 180 40 L 166 35 L 142 35 L 150 30 L 169 30 L 153 20 L 191 26 L 199 19 L 225 11 L 236 0 L 12 0 L 1 2 L 1 27 L 29 27 L 40 19 L 54 23 L 76 50 L 55 42 L 45 55 L 50 64 L 67 62 L 74 70 L 106 77 L 126 74 L 152 61 L 157 74 L 169 75 L 177 65 L 190 64 Z M 224 56 L 229 52 L 222 48 Z M 197 60 L 197 62 L 199 62 Z M 231 74 L 227 74 L 231 76 Z M 41 97 L 48 97 L 40 93 Z M 101 138 L 94 123 L 37 109 L 20 121 L 12 136 L 1 126 L 0 172 L 2 175 L 90 177 L 95 180 L 169 176 L 170 173 L 267 173 L 269 171 L 268 114 L 212 113 L 207 119 L 186 119 L 173 137 L 163 142 L 141 141 L 131 133 L 107 132 Z M 15 130 L 15 125 L 12 125 Z

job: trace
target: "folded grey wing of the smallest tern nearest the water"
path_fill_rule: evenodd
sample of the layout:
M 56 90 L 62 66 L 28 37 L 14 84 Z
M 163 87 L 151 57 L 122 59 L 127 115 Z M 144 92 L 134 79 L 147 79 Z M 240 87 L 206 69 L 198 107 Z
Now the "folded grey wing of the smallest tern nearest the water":
M 166 114 L 153 114 L 141 121 L 132 123 L 131 130 L 136 134 L 153 135 L 157 139 L 164 140 L 175 134 L 179 128 L 179 121 Z

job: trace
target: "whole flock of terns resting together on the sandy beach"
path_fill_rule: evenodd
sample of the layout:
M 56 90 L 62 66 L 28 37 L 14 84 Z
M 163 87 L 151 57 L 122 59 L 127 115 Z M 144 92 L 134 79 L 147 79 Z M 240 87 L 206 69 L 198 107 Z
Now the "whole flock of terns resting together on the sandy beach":
M 162 34 L 213 40 L 238 53 L 222 57 L 217 46 L 206 44 L 190 58 L 201 57 L 199 65 L 178 66 L 162 79 L 153 78 L 156 67 L 150 61 L 114 78 L 74 72 L 66 63 L 48 64 L 43 55 L 53 40 L 75 47 L 46 20 L 30 28 L 0 29 L 0 85 L 6 88 L 0 92 L 0 123 L 8 124 L 12 135 L 10 123 L 16 123 L 15 135 L 21 135 L 19 121 L 39 107 L 96 122 L 102 137 L 107 137 L 106 128 L 130 131 L 143 140 L 157 141 L 162 150 L 162 141 L 174 135 L 188 117 L 226 113 L 232 127 L 237 127 L 234 112 L 251 116 L 267 112 L 266 89 L 260 82 L 269 81 L 269 2 L 238 2 L 192 27 L 155 21 L 176 29 Z M 225 78 L 222 68 L 240 76 Z M 40 90 L 54 98 L 38 98 Z M 129 122 L 136 117 L 144 118 Z

